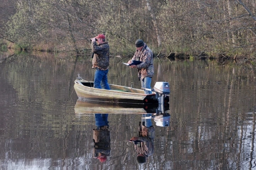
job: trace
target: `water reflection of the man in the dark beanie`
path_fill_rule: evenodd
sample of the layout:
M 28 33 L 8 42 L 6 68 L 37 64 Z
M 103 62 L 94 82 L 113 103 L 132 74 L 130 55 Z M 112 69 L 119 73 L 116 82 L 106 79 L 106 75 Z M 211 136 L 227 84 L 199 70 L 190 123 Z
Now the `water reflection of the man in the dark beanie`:
M 139 136 L 132 137 L 129 141 L 134 143 L 137 151 L 137 162 L 145 163 L 148 156 L 154 152 L 155 128 L 151 122 L 151 114 L 143 114 L 139 124 Z

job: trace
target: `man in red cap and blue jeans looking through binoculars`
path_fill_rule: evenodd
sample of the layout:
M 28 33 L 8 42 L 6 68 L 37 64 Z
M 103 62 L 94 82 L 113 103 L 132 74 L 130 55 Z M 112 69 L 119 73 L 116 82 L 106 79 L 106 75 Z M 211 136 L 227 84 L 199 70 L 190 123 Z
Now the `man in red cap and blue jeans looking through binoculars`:
M 96 69 L 94 75 L 94 88 L 102 89 L 102 83 L 104 89 L 110 90 L 107 80 L 110 49 L 108 42 L 105 42 L 105 35 L 103 34 L 98 34 L 98 36 L 91 38 L 91 41 L 91 48 L 93 52 L 92 68 Z

